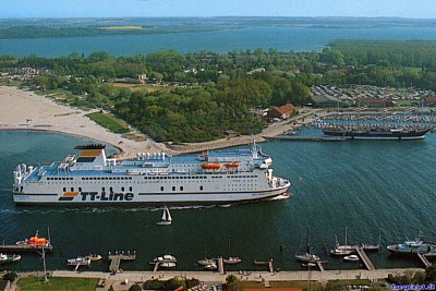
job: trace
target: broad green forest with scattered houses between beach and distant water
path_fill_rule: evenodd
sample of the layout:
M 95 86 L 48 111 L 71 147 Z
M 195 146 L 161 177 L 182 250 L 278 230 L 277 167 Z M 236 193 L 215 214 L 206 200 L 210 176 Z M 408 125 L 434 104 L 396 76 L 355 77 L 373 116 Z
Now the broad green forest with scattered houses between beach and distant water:
M 311 102 L 310 87 L 349 84 L 436 90 L 435 40 L 336 40 L 323 51 L 269 49 L 227 53 L 174 50 L 113 57 L 107 52 L 0 56 L 0 72 L 36 70 L 26 86 L 64 90 L 70 105 L 112 112 L 158 142 L 203 142 L 228 130 L 256 134 L 253 109 Z M 117 86 L 118 82 L 145 85 Z

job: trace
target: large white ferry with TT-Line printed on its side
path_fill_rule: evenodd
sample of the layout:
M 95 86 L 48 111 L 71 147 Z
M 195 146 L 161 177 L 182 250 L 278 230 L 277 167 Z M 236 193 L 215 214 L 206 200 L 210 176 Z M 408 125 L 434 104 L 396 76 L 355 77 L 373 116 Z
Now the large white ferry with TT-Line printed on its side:
M 283 194 L 286 179 L 272 175 L 271 158 L 251 148 L 169 157 L 137 154 L 108 158 L 102 145 L 61 162 L 14 171 L 13 199 L 20 205 L 207 205 L 251 202 Z

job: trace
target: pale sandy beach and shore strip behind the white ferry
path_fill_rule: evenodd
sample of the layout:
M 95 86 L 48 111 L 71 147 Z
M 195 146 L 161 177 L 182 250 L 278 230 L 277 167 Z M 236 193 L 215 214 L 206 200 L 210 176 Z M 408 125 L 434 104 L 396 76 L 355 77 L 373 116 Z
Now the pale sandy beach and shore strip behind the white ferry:
M 135 142 L 107 131 L 86 117 L 89 111 L 56 104 L 49 98 L 38 96 L 32 90 L 11 86 L 0 86 L 0 130 L 52 131 L 78 135 L 111 144 L 121 149 L 121 157 L 134 157 L 136 153 L 166 151 L 169 155 L 195 153 L 206 149 L 223 148 L 250 144 L 252 136 L 243 135 L 213 142 L 169 145 L 156 143 L 150 138 Z M 306 119 L 305 122 L 310 122 Z M 300 124 L 301 125 L 301 124 Z M 281 121 L 269 125 L 259 136 L 275 136 L 292 130 L 295 124 Z M 263 137 L 257 138 L 263 142 Z

